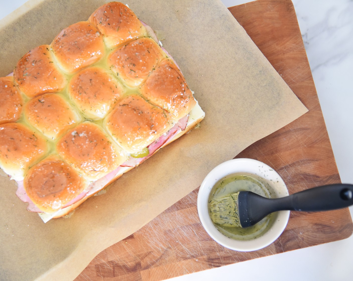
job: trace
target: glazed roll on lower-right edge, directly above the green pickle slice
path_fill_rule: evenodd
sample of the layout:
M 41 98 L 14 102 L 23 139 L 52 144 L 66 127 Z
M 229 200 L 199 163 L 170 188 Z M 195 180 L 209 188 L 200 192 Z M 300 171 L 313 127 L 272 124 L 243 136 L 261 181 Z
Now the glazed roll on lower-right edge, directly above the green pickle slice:
M 120 101 L 104 123 L 110 135 L 129 153 L 136 153 L 173 127 L 170 114 L 138 95 Z

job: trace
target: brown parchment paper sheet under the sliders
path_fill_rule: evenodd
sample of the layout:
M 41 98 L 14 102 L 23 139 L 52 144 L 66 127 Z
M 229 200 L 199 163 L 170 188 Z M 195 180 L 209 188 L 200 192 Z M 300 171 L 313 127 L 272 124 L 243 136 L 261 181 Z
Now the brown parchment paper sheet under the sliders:
M 0 21 L 0 75 L 105 1 L 32 0 Z M 100 251 L 197 188 L 216 165 L 307 110 L 219 0 L 126 1 L 179 64 L 206 113 L 201 128 L 44 224 L 0 175 L 0 280 L 73 280 Z

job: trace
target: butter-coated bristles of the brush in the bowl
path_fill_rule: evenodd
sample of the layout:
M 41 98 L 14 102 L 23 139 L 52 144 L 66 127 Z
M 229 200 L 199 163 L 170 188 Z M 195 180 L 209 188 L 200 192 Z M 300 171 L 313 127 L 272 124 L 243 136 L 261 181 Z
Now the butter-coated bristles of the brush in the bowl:
M 238 212 L 238 193 L 210 201 L 210 217 L 215 224 L 241 227 Z

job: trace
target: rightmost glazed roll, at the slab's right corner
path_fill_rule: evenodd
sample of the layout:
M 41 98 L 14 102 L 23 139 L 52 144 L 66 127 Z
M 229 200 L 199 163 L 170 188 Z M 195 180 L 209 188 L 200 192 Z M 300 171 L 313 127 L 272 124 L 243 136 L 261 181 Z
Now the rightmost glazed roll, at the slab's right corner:
M 183 74 L 170 59 L 163 60 L 141 87 L 150 103 L 169 111 L 180 119 L 196 105 Z

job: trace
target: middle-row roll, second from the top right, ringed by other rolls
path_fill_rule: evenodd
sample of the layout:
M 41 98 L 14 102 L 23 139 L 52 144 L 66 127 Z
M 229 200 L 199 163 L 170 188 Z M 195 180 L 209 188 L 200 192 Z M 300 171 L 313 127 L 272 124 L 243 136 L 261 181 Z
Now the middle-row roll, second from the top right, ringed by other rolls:
M 91 67 L 74 75 L 68 93 L 86 118 L 101 119 L 121 99 L 121 84 L 107 71 Z

